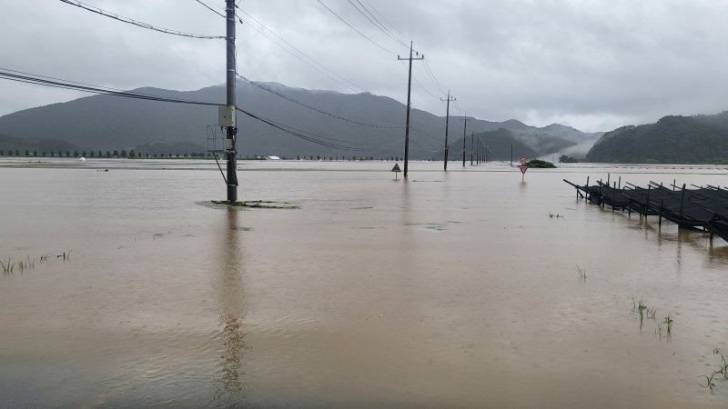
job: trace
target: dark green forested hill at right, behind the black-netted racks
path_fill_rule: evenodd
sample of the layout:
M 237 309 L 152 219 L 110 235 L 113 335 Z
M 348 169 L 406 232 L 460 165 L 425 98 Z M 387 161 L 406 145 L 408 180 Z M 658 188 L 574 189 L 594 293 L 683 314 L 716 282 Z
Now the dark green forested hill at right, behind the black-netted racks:
M 589 162 L 728 163 L 728 111 L 718 115 L 665 116 L 655 124 L 623 126 L 602 135 Z

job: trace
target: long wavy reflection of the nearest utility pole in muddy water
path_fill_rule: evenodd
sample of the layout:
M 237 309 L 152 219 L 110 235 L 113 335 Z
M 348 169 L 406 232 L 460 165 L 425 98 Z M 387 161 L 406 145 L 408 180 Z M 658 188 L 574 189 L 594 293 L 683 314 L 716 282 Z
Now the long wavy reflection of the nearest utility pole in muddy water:
M 247 386 L 244 384 L 245 358 L 249 349 L 245 341 L 243 318 L 246 303 L 243 294 L 243 253 L 238 227 L 238 210 L 227 208 L 227 223 L 224 243 L 221 244 L 222 257 L 217 280 L 220 294 L 220 325 L 218 337 L 224 348 L 220 355 L 220 377 L 215 381 L 215 399 L 224 397 L 239 400 L 245 397 Z

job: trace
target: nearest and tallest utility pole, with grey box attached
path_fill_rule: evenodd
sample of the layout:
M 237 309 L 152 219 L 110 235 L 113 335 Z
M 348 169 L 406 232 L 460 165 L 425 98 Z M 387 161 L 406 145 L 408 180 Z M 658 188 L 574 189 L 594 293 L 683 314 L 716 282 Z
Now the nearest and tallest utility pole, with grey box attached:
M 225 156 L 227 158 L 227 201 L 238 201 L 238 175 L 236 170 L 238 163 L 236 156 L 238 155 L 237 135 L 238 127 L 236 124 L 236 102 L 235 102 L 235 0 L 225 1 L 225 11 L 227 20 L 227 106 L 225 114 L 227 119 L 227 132 L 225 135 Z M 220 115 L 224 117 L 224 115 Z M 221 121 L 226 122 L 226 121 Z

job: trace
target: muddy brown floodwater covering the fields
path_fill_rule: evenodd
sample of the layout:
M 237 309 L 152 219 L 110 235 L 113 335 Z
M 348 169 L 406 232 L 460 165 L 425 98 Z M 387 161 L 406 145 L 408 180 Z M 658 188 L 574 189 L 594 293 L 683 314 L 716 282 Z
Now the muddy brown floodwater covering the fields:
M 214 162 L 25 162 L 0 165 L 0 259 L 30 264 L 0 273 L 2 407 L 728 406 L 702 377 L 728 244 L 562 182 L 724 166 L 240 162 L 241 199 L 296 208 L 235 210 Z

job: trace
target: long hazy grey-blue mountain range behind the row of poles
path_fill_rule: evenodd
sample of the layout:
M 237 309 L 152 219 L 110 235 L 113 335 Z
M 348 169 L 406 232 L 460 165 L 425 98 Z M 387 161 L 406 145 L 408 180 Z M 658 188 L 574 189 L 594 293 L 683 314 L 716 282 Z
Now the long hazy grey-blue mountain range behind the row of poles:
M 277 83 L 238 81 L 237 86 L 240 108 L 293 128 L 326 145 L 349 148 L 317 145 L 238 113 L 240 155 L 374 158 L 403 155 L 406 106 L 394 99 L 369 93 L 351 95 L 306 90 Z M 216 104 L 225 102 L 224 85 L 188 92 L 158 88 L 139 88 L 133 92 Z M 454 152 L 453 141 L 460 139 L 462 143 L 465 121 L 461 119 L 450 116 L 450 155 Z M 579 143 L 591 144 L 599 136 L 564 125 L 537 128 L 516 120 L 490 122 L 470 119 L 465 129 L 466 139 L 471 133 L 502 128 L 508 130 L 513 139 L 529 147 L 534 156 L 550 155 Z M 30 144 L 44 139 L 62 140 L 83 150 L 135 149 L 136 152 L 152 153 L 153 150 L 185 148 L 198 151 L 207 148 L 208 138 L 213 135 L 219 142 L 222 134 L 216 123 L 216 106 L 92 95 L 2 116 L 0 133 L 23 138 Z M 441 160 L 444 155 L 444 116 L 413 108 L 410 125 L 410 157 Z M 157 149 L 153 149 L 155 146 Z M 470 149 L 467 143 L 466 148 Z

